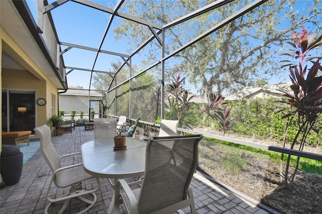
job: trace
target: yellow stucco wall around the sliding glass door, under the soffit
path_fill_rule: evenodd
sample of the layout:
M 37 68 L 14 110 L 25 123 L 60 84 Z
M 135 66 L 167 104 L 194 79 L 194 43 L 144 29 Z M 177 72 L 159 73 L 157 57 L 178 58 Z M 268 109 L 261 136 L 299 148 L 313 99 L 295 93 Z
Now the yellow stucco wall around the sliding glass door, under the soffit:
M 37 67 L 37 65 L 19 48 L 19 46 L 1 29 L 2 50 L 19 62 L 24 70 L 2 69 L 2 89 L 28 89 L 36 91 L 36 100 L 40 97 L 46 98 L 47 104 L 40 106 L 36 104 L 36 126 L 47 123 L 51 115 L 51 94 L 56 98 L 54 109 L 58 112 L 58 90 L 48 77 Z M 1 100 L 2 101 L 2 100 Z M 32 138 L 32 137 L 31 137 Z M 39 138 L 39 136 L 34 137 Z M 1 142 L 2 145 L 2 142 Z

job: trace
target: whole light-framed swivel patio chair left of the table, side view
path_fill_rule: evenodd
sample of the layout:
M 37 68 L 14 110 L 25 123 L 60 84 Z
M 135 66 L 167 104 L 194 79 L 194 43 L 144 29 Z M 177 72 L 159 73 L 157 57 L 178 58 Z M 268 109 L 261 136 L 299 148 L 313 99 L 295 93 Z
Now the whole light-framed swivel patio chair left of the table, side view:
M 49 204 L 46 206 L 44 213 L 48 213 L 48 209 L 53 203 L 64 201 L 62 207 L 58 212 L 63 213 L 63 211 L 66 209 L 72 198 L 76 198 L 89 204 L 85 209 L 79 211 L 78 213 L 84 213 L 88 211 L 96 202 L 97 196 L 94 192 L 98 190 L 100 187 L 100 179 L 98 177 L 93 177 L 92 175 L 85 172 L 83 163 L 62 167 L 61 158 L 75 154 L 80 154 L 81 152 L 67 154 L 59 157 L 51 142 L 50 128 L 47 125 L 43 125 L 40 127 L 36 127 L 34 130 L 36 131 L 36 133 L 40 135 L 40 151 L 53 173 L 46 194 L 46 198 L 49 201 Z M 96 178 L 97 180 L 96 187 L 93 187 L 93 185 L 89 185 L 93 188 L 85 188 L 83 190 L 82 182 L 92 179 L 90 181 L 92 183 L 94 178 Z M 53 188 L 53 184 L 57 188 L 69 188 L 69 191 L 60 196 L 51 197 L 50 190 Z M 88 194 L 91 196 L 87 197 L 89 196 Z M 57 194 L 54 195 L 56 196 Z

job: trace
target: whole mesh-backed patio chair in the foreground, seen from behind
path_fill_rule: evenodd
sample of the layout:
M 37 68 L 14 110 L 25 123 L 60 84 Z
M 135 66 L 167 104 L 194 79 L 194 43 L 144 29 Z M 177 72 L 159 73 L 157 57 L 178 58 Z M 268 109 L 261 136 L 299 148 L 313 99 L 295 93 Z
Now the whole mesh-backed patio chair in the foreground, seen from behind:
M 183 213 L 181 208 L 186 206 L 190 206 L 191 213 L 196 213 L 190 182 L 197 167 L 202 137 L 150 137 L 140 187 L 132 190 L 124 179 L 118 180 L 113 196 L 115 212 L 120 213 L 121 202 L 129 213 Z

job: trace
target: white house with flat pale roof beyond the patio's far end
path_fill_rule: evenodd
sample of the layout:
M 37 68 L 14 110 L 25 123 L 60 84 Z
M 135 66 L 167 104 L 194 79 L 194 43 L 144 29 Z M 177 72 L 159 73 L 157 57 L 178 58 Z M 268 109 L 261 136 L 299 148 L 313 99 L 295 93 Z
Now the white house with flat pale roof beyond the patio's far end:
M 84 112 L 84 118 L 89 119 L 90 111 L 95 111 L 95 118 L 99 118 L 100 101 L 102 94 L 84 90 L 78 87 L 69 87 L 65 93 L 58 95 L 58 108 L 64 110 L 64 116 L 70 117 L 70 111 L 76 110 L 75 119 L 79 119 L 79 111 Z

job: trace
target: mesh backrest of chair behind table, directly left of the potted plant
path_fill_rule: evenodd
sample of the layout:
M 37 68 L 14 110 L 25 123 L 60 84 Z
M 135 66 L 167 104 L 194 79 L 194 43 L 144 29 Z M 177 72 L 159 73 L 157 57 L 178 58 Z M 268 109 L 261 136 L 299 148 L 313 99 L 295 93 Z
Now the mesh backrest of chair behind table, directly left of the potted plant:
M 116 118 L 94 119 L 94 139 L 113 138 L 116 134 Z

